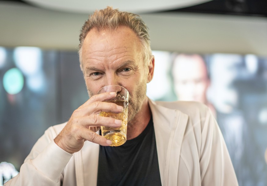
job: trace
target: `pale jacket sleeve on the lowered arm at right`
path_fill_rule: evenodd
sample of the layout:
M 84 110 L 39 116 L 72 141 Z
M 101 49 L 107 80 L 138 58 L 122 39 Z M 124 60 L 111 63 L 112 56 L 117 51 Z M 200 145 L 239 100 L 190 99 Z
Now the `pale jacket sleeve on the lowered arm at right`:
M 210 111 L 202 121 L 201 128 L 201 185 L 238 186 L 224 138 Z

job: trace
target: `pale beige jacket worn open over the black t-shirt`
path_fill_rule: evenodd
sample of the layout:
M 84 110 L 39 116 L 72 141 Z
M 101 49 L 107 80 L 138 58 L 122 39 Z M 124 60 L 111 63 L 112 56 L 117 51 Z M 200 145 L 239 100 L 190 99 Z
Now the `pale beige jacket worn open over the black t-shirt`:
M 152 111 L 162 186 L 237 186 L 217 122 L 196 102 L 153 102 Z M 36 142 L 17 177 L 5 185 L 96 186 L 99 145 L 86 141 L 73 155 L 54 138 L 66 123 L 52 126 Z

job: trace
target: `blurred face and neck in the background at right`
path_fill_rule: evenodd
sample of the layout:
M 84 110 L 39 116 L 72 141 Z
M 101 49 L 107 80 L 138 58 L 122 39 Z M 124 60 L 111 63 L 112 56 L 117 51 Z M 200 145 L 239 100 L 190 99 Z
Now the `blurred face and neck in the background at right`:
M 210 77 L 203 57 L 198 54 L 178 54 L 172 64 L 172 78 L 179 100 L 204 103 L 216 116 L 213 104 L 207 99 Z

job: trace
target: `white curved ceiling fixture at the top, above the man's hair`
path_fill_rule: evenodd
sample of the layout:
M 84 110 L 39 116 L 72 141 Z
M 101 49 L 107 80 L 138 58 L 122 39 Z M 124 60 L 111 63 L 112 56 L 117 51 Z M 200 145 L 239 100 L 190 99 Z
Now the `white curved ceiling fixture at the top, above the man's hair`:
M 107 6 L 132 13 L 149 13 L 184 8 L 209 1 L 211 0 L 24 0 L 41 8 L 72 13 L 92 13 L 95 9 L 103 9 Z

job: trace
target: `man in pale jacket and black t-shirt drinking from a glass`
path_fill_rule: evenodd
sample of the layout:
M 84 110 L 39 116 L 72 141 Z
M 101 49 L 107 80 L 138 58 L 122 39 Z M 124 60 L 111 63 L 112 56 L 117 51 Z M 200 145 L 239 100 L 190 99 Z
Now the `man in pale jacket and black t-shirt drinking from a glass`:
M 96 11 L 80 35 L 80 66 L 90 99 L 68 122 L 46 130 L 6 185 L 237 185 L 206 106 L 146 97 L 154 71 L 149 42 L 139 16 L 110 7 Z M 122 111 L 103 102 L 114 93 L 96 94 L 112 84 L 130 94 L 127 141 L 118 147 L 109 147 L 98 131 L 121 125 L 98 115 Z

